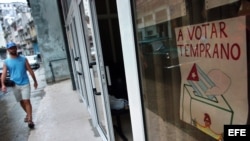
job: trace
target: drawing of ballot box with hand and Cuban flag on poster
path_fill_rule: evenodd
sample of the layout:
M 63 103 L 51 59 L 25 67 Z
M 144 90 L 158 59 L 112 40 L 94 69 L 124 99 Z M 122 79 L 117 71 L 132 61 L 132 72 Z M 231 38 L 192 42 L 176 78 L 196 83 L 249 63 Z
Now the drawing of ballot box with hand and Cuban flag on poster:
M 182 87 L 181 120 L 213 137 L 222 135 L 224 125 L 232 124 L 234 117 L 233 109 L 224 97 L 230 82 L 221 70 L 211 70 L 206 74 L 194 64 L 187 83 Z

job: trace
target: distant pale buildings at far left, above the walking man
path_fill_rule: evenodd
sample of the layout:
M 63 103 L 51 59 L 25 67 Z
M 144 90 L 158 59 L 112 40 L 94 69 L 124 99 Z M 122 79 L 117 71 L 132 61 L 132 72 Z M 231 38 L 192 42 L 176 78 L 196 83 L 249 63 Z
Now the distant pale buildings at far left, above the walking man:
M 30 8 L 24 2 L 0 3 L 0 21 L 3 36 L 1 40 L 13 41 L 18 45 L 18 52 L 24 55 L 39 54 L 36 30 Z M 3 47 L 5 47 L 3 45 Z

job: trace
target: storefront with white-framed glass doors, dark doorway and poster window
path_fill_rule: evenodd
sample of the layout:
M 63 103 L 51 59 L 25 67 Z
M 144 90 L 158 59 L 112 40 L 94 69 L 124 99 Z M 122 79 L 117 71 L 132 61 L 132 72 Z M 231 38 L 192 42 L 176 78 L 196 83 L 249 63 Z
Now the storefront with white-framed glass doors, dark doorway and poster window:
M 248 0 L 53 6 L 43 23 L 60 16 L 71 78 L 103 140 L 215 141 L 224 125 L 249 125 Z M 112 109 L 110 96 L 129 108 Z

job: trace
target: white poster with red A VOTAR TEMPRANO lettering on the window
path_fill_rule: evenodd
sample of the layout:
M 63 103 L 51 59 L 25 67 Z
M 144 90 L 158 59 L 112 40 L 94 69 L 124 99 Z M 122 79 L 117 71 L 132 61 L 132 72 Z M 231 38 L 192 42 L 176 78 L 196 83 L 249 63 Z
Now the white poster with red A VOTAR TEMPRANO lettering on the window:
M 246 19 L 175 29 L 181 68 L 180 117 L 222 140 L 224 125 L 248 118 Z

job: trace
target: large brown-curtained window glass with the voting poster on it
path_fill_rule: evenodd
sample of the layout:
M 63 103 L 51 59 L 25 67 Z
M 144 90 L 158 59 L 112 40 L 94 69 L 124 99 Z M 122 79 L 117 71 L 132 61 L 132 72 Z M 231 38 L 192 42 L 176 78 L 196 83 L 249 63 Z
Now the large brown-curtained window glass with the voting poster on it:
M 149 141 L 223 140 L 249 124 L 248 0 L 135 0 Z

